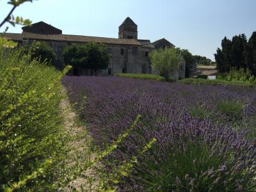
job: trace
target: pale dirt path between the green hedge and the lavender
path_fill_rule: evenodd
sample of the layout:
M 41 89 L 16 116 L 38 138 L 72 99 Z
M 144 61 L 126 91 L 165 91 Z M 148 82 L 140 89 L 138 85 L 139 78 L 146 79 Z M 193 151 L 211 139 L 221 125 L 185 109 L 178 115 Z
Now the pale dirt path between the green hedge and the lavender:
M 63 90 L 63 92 L 67 95 L 66 90 Z M 65 97 L 65 99 L 61 101 L 60 107 L 65 119 L 65 129 L 67 129 L 67 132 L 72 138 L 72 140 L 67 143 L 68 148 L 70 148 L 68 158 L 72 158 L 71 161 L 68 161 L 68 166 L 83 168 L 86 163 L 92 161 L 96 156 L 96 154 L 93 153 L 92 138 L 86 131 L 86 127 L 84 127 L 83 124 L 79 125 L 77 115 L 72 111 L 68 97 Z M 102 168 L 102 164 L 100 163 L 87 168 L 79 177 L 74 178 L 65 188 L 61 188 L 58 191 L 98 191 L 100 168 Z

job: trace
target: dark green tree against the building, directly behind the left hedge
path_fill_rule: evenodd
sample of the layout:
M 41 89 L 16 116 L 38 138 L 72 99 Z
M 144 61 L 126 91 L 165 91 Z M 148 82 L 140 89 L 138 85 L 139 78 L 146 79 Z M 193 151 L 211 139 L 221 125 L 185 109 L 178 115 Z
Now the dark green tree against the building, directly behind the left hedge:
M 40 59 L 41 63 L 44 61 L 47 61 L 49 64 L 54 63 L 57 58 L 54 49 L 52 49 L 46 42 L 34 41 L 31 45 L 20 47 L 19 50 L 24 54 L 29 54 L 31 60 Z

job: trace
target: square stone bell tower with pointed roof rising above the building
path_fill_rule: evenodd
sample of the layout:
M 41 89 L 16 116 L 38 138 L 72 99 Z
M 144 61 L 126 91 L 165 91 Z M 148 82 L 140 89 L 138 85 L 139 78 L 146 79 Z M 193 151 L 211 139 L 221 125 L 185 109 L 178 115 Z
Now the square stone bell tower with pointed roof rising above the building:
M 138 39 L 138 26 L 130 17 L 119 26 L 118 38 Z

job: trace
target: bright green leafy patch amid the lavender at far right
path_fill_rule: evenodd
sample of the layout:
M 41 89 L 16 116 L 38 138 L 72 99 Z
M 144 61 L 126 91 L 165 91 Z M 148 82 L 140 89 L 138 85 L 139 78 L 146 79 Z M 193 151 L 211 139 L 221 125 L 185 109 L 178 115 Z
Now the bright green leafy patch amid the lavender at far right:
M 229 120 L 240 120 L 243 115 L 243 102 L 240 101 L 221 101 L 216 105 L 216 109 L 229 117 Z

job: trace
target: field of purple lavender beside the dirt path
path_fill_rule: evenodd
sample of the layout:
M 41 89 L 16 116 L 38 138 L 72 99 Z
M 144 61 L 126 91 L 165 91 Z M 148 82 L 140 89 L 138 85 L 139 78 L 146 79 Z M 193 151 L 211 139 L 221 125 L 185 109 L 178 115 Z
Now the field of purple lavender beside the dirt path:
M 65 77 L 63 84 L 102 147 L 142 116 L 109 157 L 119 160 L 115 163 L 138 155 L 145 143 L 157 139 L 120 184 L 122 190 L 256 189 L 255 88 L 119 77 Z

